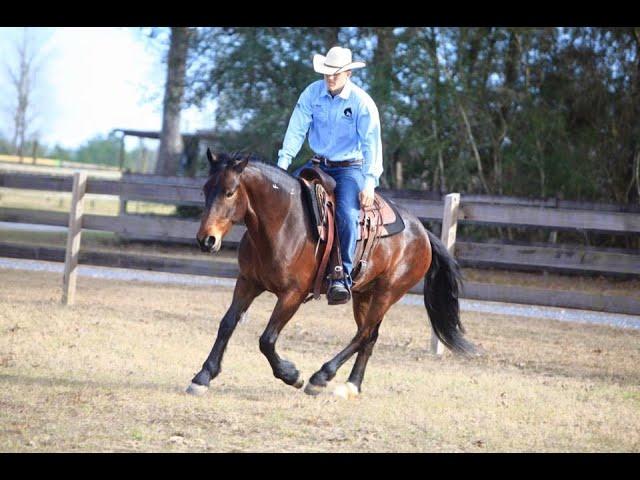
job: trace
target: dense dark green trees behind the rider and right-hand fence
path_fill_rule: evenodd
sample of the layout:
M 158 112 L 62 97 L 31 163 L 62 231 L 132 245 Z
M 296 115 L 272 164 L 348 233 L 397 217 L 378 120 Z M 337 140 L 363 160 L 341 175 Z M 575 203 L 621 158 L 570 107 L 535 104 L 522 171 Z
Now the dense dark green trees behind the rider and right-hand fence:
M 217 148 L 275 161 L 314 53 L 348 45 L 378 104 L 383 185 L 635 203 L 640 29 L 201 28 L 187 103 L 216 99 Z M 307 147 L 294 164 L 310 154 Z

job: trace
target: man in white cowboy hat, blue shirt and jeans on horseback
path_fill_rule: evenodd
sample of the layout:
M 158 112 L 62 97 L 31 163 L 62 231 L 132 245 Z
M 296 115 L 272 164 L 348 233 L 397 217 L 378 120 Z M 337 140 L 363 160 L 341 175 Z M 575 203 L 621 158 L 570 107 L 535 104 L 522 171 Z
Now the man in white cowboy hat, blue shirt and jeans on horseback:
M 300 95 L 278 152 L 278 166 L 286 170 L 308 133 L 315 156 L 304 167 L 316 163 L 336 181 L 344 280 L 331 282 L 327 291 L 331 305 L 351 298 L 360 206 L 372 205 L 383 171 L 378 109 L 371 97 L 351 82 L 352 70 L 364 66 L 364 62 L 352 61 L 348 48 L 333 47 L 326 57 L 315 55 L 313 68 L 324 80 L 313 82 Z

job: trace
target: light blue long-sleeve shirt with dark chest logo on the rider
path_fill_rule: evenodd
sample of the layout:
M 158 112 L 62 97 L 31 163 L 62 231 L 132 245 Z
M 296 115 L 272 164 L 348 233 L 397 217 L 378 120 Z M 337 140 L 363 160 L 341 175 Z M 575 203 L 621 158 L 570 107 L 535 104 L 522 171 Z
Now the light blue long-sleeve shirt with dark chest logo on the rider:
M 313 82 L 302 92 L 278 152 L 279 167 L 289 167 L 307 133 L 314 153 L 333 161 L 362 160 L 365 188 L 373 190 L 379 185 L 383 166 L 378 108 L 351 79 L 335 97 L 324 80 Z

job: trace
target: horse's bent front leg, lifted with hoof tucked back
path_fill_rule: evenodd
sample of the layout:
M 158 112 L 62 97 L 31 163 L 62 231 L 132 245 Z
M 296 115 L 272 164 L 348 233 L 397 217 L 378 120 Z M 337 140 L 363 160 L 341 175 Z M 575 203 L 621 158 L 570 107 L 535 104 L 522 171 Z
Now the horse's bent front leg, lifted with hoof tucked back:
M 289 292 L 278 297 L 278 302 L 271 314 L 267 328 L 260 336 L 260 351 L 269 360 L 273 375 L 287 385 L 292 385 L 296 388 L 304 385 L 304 379 L 292 362 L 278 356 L 276 353 L 276 341 L 280 331 L 298 311 L 304 297 L 305 294 L 300 292 Z

